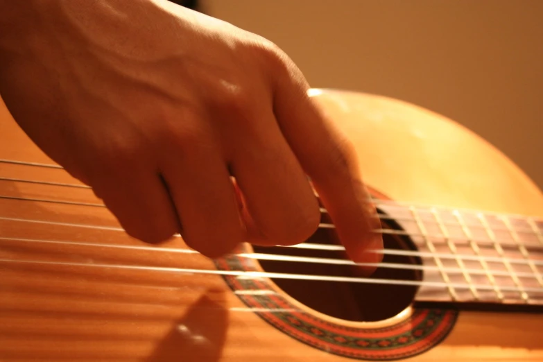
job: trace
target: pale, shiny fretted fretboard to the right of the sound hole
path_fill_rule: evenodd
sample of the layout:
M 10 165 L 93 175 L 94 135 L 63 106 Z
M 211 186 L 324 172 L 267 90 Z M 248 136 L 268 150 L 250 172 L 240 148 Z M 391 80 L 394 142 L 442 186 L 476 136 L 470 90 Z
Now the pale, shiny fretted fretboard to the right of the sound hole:
M 422 259 L 419 302 L 543 305 L 543 221 L 379 202 Z

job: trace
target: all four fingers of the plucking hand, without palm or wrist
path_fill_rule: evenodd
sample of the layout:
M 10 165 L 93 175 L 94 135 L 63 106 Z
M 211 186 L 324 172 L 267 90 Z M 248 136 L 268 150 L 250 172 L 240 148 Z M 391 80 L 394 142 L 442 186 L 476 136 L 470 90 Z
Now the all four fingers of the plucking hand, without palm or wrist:
M 245 100 L 230 112 L 208 108 L 205 119 L 167 122 L 154 168 L 166 186 L 158 173 L 131 171 L 133 180 L 123 175 L 100 189 L 129 234 L 160 241 L 182 225 L 184 241 L 208 257 L 247 237 L 263 245 L 300 243 L 320 221 L 309 175 L 350 258 L 379 262 L 380 254 L 367 252 L 383 244 L 373 232 L 379 219 L 372 217 L 354 151 L 292 72 L 275 79 L 273 97 L 250 94 L 264 102 Z

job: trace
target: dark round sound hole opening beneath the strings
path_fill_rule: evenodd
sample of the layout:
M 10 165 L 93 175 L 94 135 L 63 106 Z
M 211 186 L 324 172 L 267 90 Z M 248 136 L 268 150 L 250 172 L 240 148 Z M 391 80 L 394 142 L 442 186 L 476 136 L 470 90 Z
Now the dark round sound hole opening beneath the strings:
M 322 223 L 330 223 L 323 214 Z M 398 230 L 395 223 L 384 223 L 383 229 Z M 413 243 L 404 236 L 384 234 L 386 249 L 414 250 Z M 338 245 L 333 229 L 319 229 L 307 243 Z M 343 251 L 311 250 L 301 248 L 254 246 L 255 252 L 296 257 L 347 259 Z M 305 275 L 331 275 L 339 277 L 364 277 L 359 266 L 317 264 L 293 261 L 259 261 L 270 273 L 293 273 Z M 422 280 L 422 271 L 410 266 L 420 265 L 420 259 L 406 255 L 385 255 L 383 263 L 404 264 L 397 268 L 379 267 L 371 279 Z M 417 293 L 417 286 L 393 284 L 366 284 L 357 282 L 327 282 L 297 279 L 273 279 L 285 293 L 307 307 L 343 320 L 375 322 L 396 316 L 406 309 Z

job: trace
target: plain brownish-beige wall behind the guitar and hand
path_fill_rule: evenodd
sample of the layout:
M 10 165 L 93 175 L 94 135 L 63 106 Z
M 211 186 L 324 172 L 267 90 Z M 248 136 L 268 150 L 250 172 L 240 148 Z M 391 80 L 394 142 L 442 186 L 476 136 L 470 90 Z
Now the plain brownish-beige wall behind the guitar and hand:
M 200 0 L 313 87 L 383 94 L 488 139 L 543 188 L 543 0 Z

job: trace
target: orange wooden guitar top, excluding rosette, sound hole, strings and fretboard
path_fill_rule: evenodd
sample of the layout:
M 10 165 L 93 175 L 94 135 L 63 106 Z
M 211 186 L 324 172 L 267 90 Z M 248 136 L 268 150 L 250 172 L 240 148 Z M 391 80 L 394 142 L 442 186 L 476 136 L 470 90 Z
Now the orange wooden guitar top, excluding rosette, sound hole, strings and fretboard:
M 465 207 L 495 212 L 543 215 L 543 196 L 515 164 L 488 142 L 456 123 L 407 103 L 352 92 L 321 91 L 316 96 L 329 116 L 352 139 L 365 180 L 398 201 Z M 1 110 L 6 112 L 5 110 Z M 0 158 L 46 162 L 15 126 L 0 113 Z M 6 141 L 4 141 L 6 140 Z M 19 172 L 0 165 L 1 175 Z M 71 180 L 54 170 L 24 169 L 21 175 L 58 182 Z M 73 181 L 73 180 L 72 180 Z M 46 198 L 47 187 L 3 182 L 0 193 Z M 62 189 L 62 196 L 96 202 L 90 194 Z M 2 204 L 10 215 L 50 217 L 63 223 L 116 226 L 104 209 L 40 202 Z M 31 205 L 31 207 L 28 207 Z M 4 207 L 4 208 L 3 208 Z M 74 232 L 62 227 L 3 233 L 44 240 L 90 243 L 141 243 L 107 231 Z M 184 247 L 179 240 L 169 243 Z M 170 255 L 137 250 L 94 250 L 71 245 L 20 246 L 1 250 L 8 257 L 46 256 L 53 261 L 93 260 L 110 264 L 179 267 Z M 72 250 L 72 251 L 71 251 Z M 66 255 L 61 255 L 65 252 Z M 105 255 L 107 254 L 107 255 Z M 105 256 L 104 256 L 105 255 Z M 86 258 L 86 259 L 85 259 Z M 101 259 L 103 258 L 103 260 Z M 184 268 L 214 269 L 193 255 Z M 349 361 L 326 354 L 270 327 L 227 289 L 220 276 L 89 270 L 76 266 L 2 264 L 0 281 L 0 361 Z M 97 271 L 98 270 L 98 271 Z M 543 318 L 526 313 L 462 312 L 454 330 L 413 361 L 535 361 L 543 359 Z

